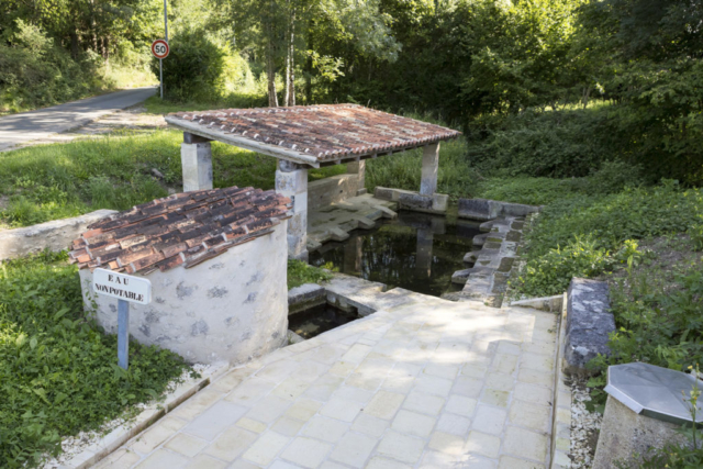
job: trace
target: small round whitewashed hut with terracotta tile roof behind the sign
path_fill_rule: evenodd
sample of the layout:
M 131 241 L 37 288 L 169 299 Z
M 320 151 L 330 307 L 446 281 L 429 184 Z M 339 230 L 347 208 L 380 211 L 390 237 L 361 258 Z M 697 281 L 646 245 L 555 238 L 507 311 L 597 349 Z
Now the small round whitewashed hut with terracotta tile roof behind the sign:
M 130 335 L 142 344 L 232 365 L 284 345 L 290 203 L 260 189 L 200 190 L 90 225 L 70 252 L 86 310 L 116 333 L 118 300 L 92 291 L 100 267 L 152 282 L 152 303 L 130 313 Z

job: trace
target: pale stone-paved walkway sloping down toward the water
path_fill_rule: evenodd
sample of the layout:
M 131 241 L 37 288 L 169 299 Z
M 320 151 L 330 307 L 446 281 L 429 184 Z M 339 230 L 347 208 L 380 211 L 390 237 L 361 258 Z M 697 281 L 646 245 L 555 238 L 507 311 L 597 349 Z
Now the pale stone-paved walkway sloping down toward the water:
M 557 316 L 413 298 L 232 369 L 98 467 L 546 468 Z

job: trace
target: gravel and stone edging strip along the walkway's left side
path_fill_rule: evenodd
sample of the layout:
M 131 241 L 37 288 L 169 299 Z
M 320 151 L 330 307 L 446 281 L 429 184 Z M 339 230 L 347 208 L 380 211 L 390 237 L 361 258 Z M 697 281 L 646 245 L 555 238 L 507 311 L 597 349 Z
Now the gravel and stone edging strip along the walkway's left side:
M 166 394 L 164 401 L 147 405 L 135 418 L 113 428 L 81 453 L 62 462 L 59 467 L 62 469 L 87 469 L 94 466 L 230 369 L 228 364 L 213 365 L 207 371 L 207 376 L 198 379 L 188 379 L 178 384 L 176 389 Z

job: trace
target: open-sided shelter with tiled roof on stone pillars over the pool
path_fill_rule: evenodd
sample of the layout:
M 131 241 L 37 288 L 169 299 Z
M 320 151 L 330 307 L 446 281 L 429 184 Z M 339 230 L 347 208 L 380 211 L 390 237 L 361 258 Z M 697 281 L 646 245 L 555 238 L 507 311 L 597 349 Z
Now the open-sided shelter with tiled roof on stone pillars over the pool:
M 178 112 L 167 115 L 166 122 L 183 131 L 183 191 L 212 188 L 211 141 L 277 158 L 276 191 L 293 201 L 288 254 L 303 259 L 308 258 L 308 211 L 364 193 L 367 158 L 424 147 L 420 192 L 403 191 L 400 197 L 420 210 L 446 210 L 447 197 L 436 193 L 439 142 L 460 135 L 357 104 Z M 319 187 L 310 191 L 309 168 L 342 163 L 350 177 L 315 182 Z

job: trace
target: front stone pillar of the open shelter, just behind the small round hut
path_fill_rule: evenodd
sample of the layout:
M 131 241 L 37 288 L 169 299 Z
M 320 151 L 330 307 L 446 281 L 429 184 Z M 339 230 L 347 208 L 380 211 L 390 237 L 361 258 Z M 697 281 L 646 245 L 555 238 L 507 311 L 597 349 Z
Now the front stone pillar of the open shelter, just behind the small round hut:
M 293 201 L 288 221 L 288 257 L 308 260 L 308 167 L 278 160 L 276 192 Z

